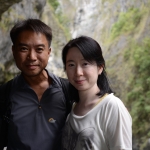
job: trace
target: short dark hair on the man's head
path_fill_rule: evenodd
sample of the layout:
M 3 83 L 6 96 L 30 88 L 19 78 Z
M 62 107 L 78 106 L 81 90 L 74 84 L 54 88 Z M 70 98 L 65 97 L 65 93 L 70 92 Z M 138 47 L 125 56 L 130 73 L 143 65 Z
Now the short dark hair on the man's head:
M 10 31 L 12 43 L 15 44 L 15 41 L 17 40 L 19 34 L 22 31 L 26 30 L 44 34 L 46 36 L 49 46 L 51 45 L 52 30 L 49 26 L 47 26 L 39 19 L 27 19 L 17 22 Z

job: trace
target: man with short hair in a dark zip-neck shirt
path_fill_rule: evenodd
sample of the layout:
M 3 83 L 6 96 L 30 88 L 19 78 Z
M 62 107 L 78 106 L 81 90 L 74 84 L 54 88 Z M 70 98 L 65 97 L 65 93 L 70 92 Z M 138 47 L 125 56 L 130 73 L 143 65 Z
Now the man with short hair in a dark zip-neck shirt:
M 10 31 L 12 52 L 21 74 L 13 79 L 8 150 L 60 149 L 66 100 L 59 78 L 45 67 L 52 31 L 38 19 L 18 22 Z

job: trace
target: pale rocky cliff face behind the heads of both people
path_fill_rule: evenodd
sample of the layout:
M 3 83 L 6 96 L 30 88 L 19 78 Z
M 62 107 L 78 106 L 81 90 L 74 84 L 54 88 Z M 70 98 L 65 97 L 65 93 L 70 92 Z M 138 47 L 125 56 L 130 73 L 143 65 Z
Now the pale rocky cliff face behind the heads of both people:
M 127 93 L 132 90 L 130 80 L 136 73 L 133 45 L 142 45 L 143 39 L 150 36 L 149 0 L 0 1 L 4 4 L 0 6 L 0 83 L 18 72 L 11 53 L 11 27 L 19 19 L 40 18 L 53 30 L 47 67 L 50 71 L 65 76 L 60 59 L 62 47 L 70 38 L 91 36 L 102 47 L 114 91 L 126 103 Z M 133 145 L 133 149 L 138 150 L 138 146 Z

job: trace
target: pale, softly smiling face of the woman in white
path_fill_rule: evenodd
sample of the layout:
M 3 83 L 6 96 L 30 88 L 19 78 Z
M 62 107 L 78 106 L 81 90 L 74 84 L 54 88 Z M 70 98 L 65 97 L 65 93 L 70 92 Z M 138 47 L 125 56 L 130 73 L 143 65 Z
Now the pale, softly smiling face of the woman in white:
M 89 63 L 84 59 L 80 50 L 76 47 L 69 49 L 66 56 L 66 73 L 70 83 L 78 91 L 98 92 L 98 75 L 103 71 L 96 62 Z

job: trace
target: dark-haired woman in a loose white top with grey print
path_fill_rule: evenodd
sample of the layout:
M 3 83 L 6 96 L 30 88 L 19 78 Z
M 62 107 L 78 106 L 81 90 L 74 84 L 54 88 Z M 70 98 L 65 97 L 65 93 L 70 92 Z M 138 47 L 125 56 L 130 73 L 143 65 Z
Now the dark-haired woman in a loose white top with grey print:
M 112 93 L 100 45 L 90 37 L 78 37 L 63 48 L 62 59 L 79 96 L 66 121 L 62 149 L 131 150 L 132 119 Z

